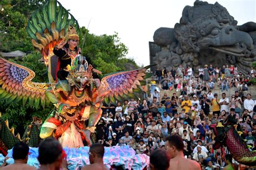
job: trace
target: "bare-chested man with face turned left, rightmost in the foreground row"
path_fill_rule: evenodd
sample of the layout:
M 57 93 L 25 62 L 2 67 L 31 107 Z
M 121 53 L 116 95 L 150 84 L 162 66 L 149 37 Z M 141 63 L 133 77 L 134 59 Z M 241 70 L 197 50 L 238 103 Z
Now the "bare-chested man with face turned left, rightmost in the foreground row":
M 169 170 L 201 169 L 198 162 L 184 158 L 184 144 L 182 138 L 179 135 L 170 135 L 169 137 L 167 137 L 165 147 L 171 157 Z

